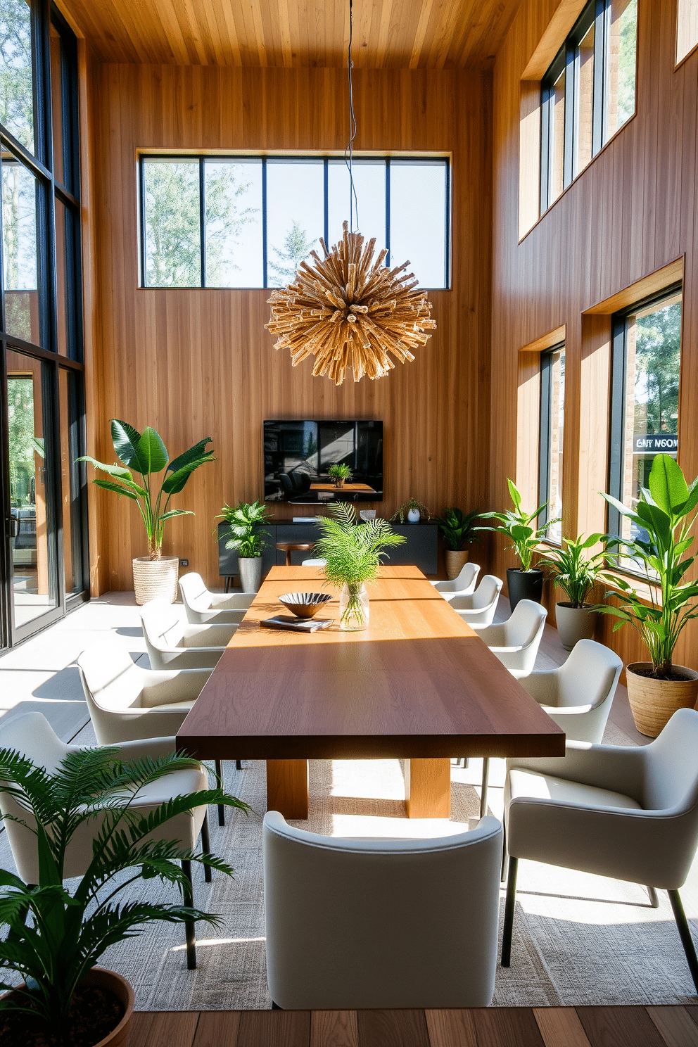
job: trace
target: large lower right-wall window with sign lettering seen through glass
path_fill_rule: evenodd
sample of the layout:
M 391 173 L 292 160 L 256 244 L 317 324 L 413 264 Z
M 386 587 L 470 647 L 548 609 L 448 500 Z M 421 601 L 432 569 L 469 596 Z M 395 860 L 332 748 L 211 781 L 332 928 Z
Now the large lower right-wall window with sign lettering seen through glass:
M 613 317 L 608 490 L 626 506 L 637 504 L 655 454 L 677 455 L 680 362 L 680 286 Z M 611 506 L 608 530 L 636 536 Z

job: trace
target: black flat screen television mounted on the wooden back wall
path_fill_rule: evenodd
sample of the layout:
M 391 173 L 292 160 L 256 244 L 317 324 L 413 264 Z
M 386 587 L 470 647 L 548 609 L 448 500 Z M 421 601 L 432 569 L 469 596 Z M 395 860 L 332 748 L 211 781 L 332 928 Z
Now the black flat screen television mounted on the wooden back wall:
M 351 483 L 335 487 L 329 468 L 352 470 Z M 383 500 L 383 423 L 363 421 L 268 421 L 264 423 L 265 502 L 301 505 Z

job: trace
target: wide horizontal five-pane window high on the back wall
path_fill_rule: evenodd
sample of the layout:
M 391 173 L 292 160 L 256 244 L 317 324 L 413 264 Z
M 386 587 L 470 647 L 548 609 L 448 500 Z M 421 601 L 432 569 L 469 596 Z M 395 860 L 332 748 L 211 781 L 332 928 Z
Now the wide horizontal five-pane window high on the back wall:
M 2 2 L 2 0 L 0 0 Z M 449 286 L 449 162 L 357 158 L 355 228 L 423 287 Z M 143 287 L 282 287 L 342 236 L 350 179 L 334 157 L 143 156 Z

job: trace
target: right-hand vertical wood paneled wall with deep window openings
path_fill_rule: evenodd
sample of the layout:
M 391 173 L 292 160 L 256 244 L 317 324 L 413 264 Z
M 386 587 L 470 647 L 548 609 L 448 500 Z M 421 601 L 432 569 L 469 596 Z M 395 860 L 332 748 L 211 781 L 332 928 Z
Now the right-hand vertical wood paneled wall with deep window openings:
M 494 70 L 490 503 L 503 506 L 506 476 L 537 462 L 536 433 L 517 417 L 530 378 L 520 350 L 565 325 L 563 527 L 577 534 L 599 526 L 608 422 L 610 318 L 583 314 L 681 257 L 679 462 L 690 477 L 698 473 L 698 53 L 675 68 L 676 0 L 638 0 L 636 115 L 519 243 L 521 79 L 561 6 L 524 0 Z M 493 554 L 497 573 L 514 565 L 502 545 Z M 634 631 L 611 638 L 610 622 L 604 636 L 626 661 L 645 660 Z M 698 667 L 695 625 L 676 655 Z

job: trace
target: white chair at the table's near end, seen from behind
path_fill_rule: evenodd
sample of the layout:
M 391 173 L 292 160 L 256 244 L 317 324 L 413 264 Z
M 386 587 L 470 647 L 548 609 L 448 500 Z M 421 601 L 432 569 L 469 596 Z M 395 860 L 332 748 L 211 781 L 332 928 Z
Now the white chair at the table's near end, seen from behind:
M 276 1006 L 486 1007 L 501 824 L 435 840 L 342 840 L 263 828 L 267 981 Z

